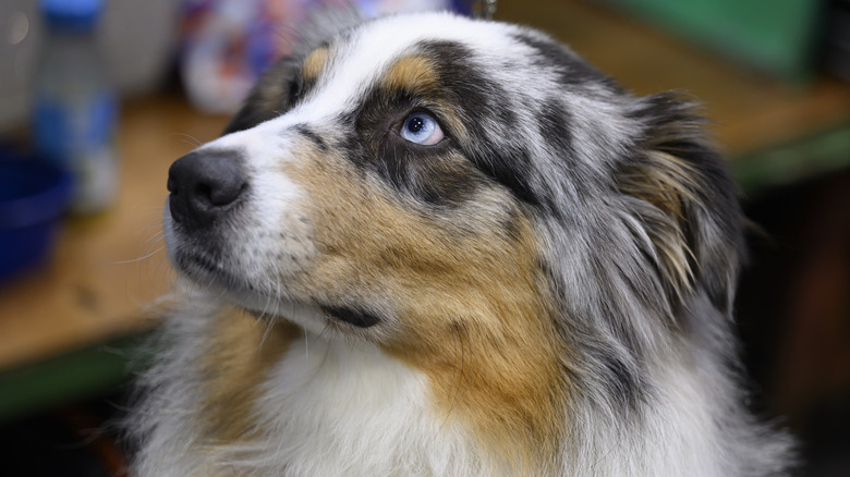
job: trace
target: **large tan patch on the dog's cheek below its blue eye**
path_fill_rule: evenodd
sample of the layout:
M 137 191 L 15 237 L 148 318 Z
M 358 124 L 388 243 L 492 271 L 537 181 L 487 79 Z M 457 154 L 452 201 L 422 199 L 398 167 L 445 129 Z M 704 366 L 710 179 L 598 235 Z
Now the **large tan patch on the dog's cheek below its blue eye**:
M 304 289 L 390 309 L 398 322 L 374 331 L 378 344 L 427 375 L 438 418 L 462 421 L 495 460 L 518 469 L 557 461 L 564 351 L 529 220 L 489 206 L 495 189 L 440 217 L 344 158 L 298 162 L 286 173 L 309 193 L 320 252 Z M 513 220 L 513 234 L 496 219 Z

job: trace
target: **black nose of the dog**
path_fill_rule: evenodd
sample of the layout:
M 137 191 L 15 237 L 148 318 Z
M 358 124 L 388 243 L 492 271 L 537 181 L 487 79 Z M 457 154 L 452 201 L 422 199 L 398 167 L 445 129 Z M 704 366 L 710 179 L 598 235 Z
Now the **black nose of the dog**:
M 215 224 L 240 203 L 246 188 L 239 152 L 234 151 L 190 152 L 168 170 L 171 217 L 191 228 Z

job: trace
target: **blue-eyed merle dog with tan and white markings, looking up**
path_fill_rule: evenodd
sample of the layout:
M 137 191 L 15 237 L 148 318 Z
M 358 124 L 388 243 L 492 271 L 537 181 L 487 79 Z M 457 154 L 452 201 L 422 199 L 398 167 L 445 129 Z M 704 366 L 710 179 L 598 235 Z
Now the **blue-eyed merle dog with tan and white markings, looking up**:
M 541 32 L 325 13 L 177 160 L 138 476 L 781 476 L 696 106 Z

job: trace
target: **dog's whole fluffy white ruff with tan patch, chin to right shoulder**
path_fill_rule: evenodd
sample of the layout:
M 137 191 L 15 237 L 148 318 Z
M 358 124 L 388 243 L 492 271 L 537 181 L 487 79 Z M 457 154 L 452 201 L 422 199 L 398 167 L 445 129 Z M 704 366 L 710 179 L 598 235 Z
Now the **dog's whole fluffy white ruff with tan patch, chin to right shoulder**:
M 522 470 L 483 451 L 451 411 L 437 411 L 427 375 L 380 350 L 258 323 L 203 294 L 195 299 L 205 306 L 163 330 L 180 348 L 147 376 L 159 392 L 139 409 L 137 425 L 149 428 L 137 475 L 711 477 L 751 475 L 737 474 L 748 461 L 754 472 L 779 472 L 782 442 L 753 456 L 717 431 L 716 419 L 736 428 L 745 416 L 716 388 L 725 377 L 713 366 L 666 363 L 653 377 L 661 390 L 653 408 L 628 426 L 592 402 L 578 403 L 586 414 L 571 425 L 582 439 L 561 450 L 573 457 Z

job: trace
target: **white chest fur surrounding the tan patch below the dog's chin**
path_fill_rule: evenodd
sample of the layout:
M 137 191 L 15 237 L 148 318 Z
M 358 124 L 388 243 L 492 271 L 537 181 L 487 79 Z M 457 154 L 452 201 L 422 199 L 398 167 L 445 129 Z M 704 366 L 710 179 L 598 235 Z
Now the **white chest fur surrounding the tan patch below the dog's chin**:
M 170 366 L 149 379 L 165 384 L 136 475 L 183 476 L 488 476 L 473 439 L 430 405 L 424 375 L 372 344 L 305 332 L 269 372 L 257 402 L 263 440 L 232 445 L 198 441 L 180 416 L 196 394 L 180 376 L 196 372 L 198 337 L 218 301 L 197 291 L 191 315 L 172 317 L 180 342 Z M 309 318 L 307 318 L 308 320 Z M 257 323 L 262 327 L 262 323 Z

